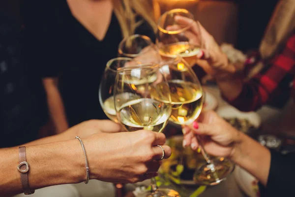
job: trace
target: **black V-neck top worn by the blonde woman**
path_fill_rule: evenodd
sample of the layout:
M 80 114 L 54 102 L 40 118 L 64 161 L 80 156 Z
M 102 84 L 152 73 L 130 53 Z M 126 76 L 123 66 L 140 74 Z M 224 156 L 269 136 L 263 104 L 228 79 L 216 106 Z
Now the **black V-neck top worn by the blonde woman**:
M 59 78 L 70 126 L 89 119 L 107 119 L 99 104 L 98 89 L 106 63 L 117 57 L 122 39 L 115 14 L 99 41 L 73 17 L 66 0 L 30 0 L 22 7 L 29 34 L 28 62 L 41 77 Z M 136 33 L 154 37 L 147 23 Z

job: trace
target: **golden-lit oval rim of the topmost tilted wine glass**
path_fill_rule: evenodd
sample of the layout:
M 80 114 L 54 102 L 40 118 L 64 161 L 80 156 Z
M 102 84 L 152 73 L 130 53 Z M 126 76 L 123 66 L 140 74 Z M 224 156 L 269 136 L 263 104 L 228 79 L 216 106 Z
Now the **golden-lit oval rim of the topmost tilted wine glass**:
M 164 27 L 161 27 L 161 25 L 160 25 L 160 21 L 161 21 L 162 17 L 163 17 L 163 16 L 166 16 L 167 14 L 170 14 L 170 13 L 176 13 L 176 12 L 183 12 L 183 13 L 189 14 L 189 15 L 191 16 L 191 19 L 194 20 L 194 16 L 193 16 L 193 14 L 192 14 L 191 12 L 189 12 L 187 9 L 183 9 L 183 8 L 172 9 L 172 10 L 169 10 L 169 11 L 164 12 L 164 13 L 160 16 L 160 18 L 159 18 L 159 20 L 158 20 L 158 24 L 157 24 L 157 28 L 158 28 L 159 31 L 161 31 L 161 32 L 163 32 L 163 33 L 177 34 L 177 33 L 184 32 L 184 31 L 186 31 L 186 30 L 188 30 L 189 28 L 192 27 L 194 21 L 192 21 L 190 25 L 188 25 L 188 26 L 186 26 L 186 27 L 184 27 L 184 28 L 181 28 L 181 29 L 179 29 L 179 30 L 175 30 L 175 31 L 168 31 L 168 30 L 164 29 Z

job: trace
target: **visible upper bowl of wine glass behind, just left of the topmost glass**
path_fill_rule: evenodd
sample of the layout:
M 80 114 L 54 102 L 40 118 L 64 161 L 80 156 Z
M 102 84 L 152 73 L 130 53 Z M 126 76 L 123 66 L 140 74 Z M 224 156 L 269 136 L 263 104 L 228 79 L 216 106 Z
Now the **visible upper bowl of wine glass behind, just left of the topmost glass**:
M 118 57 L 134 58 L 143 64 L 161 62 L 156 45 L 148 36 L 140 34 L 126 37 L 119 43 Z

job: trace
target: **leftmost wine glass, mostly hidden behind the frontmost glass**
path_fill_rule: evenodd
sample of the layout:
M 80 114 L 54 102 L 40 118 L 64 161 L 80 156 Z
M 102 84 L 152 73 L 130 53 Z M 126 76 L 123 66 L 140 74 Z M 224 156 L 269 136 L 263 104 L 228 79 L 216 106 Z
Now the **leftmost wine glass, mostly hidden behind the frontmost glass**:
M 114 105 L 114 85 L 117 69 L 124 66 L 139 65 L 139 62 L 131 58 L 115 58 L 108 61 L 103 77 L 99 85 L 99 102 L 104 113 L 112 121 L 118 123 L 115 105 Z

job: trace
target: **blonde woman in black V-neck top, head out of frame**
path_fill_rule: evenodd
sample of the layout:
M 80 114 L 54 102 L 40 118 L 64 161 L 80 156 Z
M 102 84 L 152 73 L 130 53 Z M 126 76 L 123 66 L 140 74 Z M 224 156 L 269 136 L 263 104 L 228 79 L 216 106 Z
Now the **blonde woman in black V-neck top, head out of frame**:
M 118 56 L 123 37 L 154 35 L 156 25 L 148 1 L 21 2 L 26 62 L 31 73 L 38 70 L 43 78 L 56 132 L 85 120 L 107 119 L 98 99 L 101 76 L 106 63 Z

